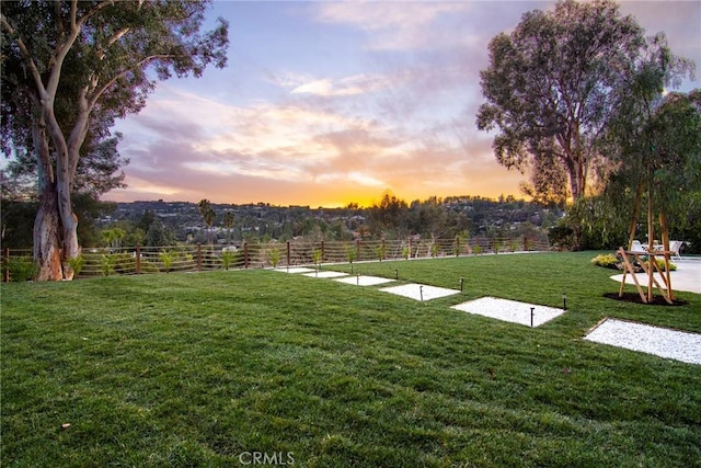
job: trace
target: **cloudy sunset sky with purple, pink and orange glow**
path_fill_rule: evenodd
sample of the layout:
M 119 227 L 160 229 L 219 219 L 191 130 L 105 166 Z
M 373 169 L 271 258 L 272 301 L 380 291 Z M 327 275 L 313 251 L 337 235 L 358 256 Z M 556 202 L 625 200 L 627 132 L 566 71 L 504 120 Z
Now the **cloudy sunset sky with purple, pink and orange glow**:
M 487 44 L 552 1 L 216 1 L 229 66 L 158 84 L 117 125 L 128 189 L 106 199 L 343 206 L 521 196 L 475 127 Z M 623 1 L 701 65 L 701 2 Z M 683 90 L 701 87 L 688 81 Z

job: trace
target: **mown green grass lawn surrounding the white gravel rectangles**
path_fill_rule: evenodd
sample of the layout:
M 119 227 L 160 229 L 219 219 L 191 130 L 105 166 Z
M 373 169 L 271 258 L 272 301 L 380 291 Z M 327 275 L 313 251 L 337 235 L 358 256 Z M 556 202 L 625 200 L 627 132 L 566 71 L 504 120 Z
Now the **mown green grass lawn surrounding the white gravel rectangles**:
M 607 316 L 701 333 L 701 295 L 606 299 L 595 254 L 353 265 L 464 278 L 426 303 L 262 270 L 3 284 L 2 466 L 701 466 L 701 366 L 582 340 Z M 563 292 L 537 329 L 449 308 Z

